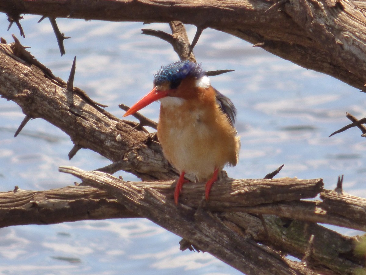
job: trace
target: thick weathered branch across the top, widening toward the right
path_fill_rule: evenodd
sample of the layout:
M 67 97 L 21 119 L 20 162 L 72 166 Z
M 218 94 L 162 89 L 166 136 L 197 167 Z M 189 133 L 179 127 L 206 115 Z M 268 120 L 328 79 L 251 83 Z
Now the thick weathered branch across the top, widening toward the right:
M 366 18 L 362 3 L 289 0 L 268 10 L 273 2 L 266 0 L 2 0 L 0 12 L 13 17 L 38 14 L 145 23 L 179 20 L 232 34 L 365 91 Z

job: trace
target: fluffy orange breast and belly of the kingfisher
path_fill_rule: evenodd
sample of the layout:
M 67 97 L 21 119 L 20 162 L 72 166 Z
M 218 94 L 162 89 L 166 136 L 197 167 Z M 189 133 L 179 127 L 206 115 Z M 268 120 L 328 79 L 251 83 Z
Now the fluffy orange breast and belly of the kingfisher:
M 239 137 L 214 95 L 161 106 L 157 134 L 168 161 L 199 181 L 238 161 Z

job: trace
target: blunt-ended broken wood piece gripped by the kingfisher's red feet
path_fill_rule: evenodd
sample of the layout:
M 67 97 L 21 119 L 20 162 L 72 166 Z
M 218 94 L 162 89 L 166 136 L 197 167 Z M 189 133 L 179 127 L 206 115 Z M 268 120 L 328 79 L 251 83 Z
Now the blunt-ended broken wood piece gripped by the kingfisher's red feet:
M 140 188 L 154 188 L 173 198 L 175 181 L 143 181 L 134 183 Z M 225 211 L 230 208 L 259 205 L 281 201 L 298 201 L 314 198 L 323 190 L 321 179 L 302 180 L 296 178 L 279 179 L 240 179 L 225 177 L 217 181 L 210 192 L 209 201 L 203 200 L 202 207 L 213 211 Z M 205 183 L 186 183 L 183 185 L 179 201 L 191 207 L 197 207 L 205 194 Z

